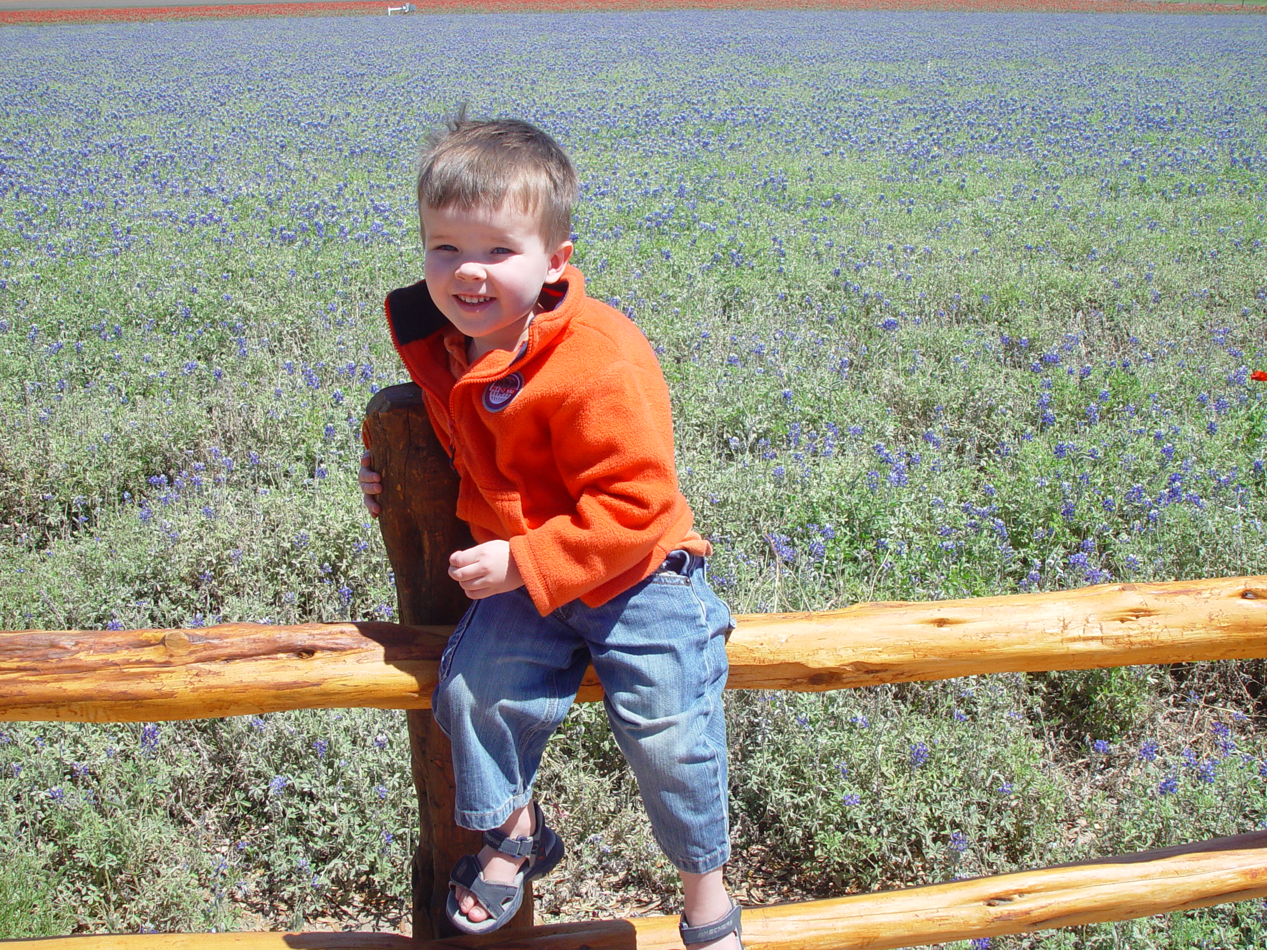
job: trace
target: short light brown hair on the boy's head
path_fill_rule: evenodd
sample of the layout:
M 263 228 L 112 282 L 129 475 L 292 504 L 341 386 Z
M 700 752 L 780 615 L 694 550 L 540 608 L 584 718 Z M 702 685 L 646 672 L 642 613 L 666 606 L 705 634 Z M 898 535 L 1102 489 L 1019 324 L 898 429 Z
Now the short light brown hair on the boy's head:
M 418 157 L 419 212 L 514 201 L 538 217 L 547 250 L 571 237 L 578 191 L 576 170 L 550 136 L 519 119 L 468 119 L 465 106 Z

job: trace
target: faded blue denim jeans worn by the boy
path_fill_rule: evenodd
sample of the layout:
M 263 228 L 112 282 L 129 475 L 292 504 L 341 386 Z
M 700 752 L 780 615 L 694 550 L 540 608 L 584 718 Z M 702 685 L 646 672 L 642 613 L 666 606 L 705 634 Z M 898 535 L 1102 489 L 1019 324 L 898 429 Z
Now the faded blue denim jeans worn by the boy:
M 730 830 L 721 695 L 732 627 L 703 557 L 685 551 L 602 607 L 573 600 L 542 617 L 523 588 L 474 600 L 449 640 L 431 700 L 452 740 L 457 823 L 494 828 L 528 802 L 546 740 L 593 661 L 656 842 L 678 870 L 722 866 Z

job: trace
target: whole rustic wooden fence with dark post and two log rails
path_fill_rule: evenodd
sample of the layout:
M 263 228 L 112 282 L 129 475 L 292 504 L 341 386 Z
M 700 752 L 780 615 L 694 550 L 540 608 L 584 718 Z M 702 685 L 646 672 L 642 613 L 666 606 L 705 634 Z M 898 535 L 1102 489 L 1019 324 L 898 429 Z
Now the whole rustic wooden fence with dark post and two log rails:
M 440 652 L 465 609 L 449 552 L 470 543 L 452 516 L 456 475 L 411 385 L 367 409 L 383 472 L 380 526 L 402 623 L 250 623 L 199 630 L 0 632 L 0 721 L 138 722 L 300 708 L 408 709 L 421 828 L 416 937 L 383 934 L 196 934 L 0 941 L 29 950 L 449 947 L 669 950 L 677 916 L 511 926 L 455 936 L 442 913 L 449 869 L 478 835 L 452 823 L 449 744 L 427 711 Z M 402 488 L 408 485 L 408 490 Z M 986 673 L 1267 656 L 1267 578 L 1106 584 L 830 613 L 739 618 L 732 689 L 827 690 Z M 602 695 L 587 676 L 578 700 Z M 946 884 L 744 911 L 754 950 L 884 950 L 1267 897 L 1267 832 Z M 432 940 L 423 940 L 431 937 Z

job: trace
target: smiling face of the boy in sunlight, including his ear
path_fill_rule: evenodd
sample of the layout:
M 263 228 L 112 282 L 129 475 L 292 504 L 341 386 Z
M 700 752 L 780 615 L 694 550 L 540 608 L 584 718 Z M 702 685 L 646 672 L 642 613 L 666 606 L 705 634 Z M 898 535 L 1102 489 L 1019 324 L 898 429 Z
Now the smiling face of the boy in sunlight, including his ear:
M 563 276 L 571 242 L 547 248 L 541 222 L 502 208 L 421 209 L 427 290 L 440 312 L 471 338 L 471 356 L 513 350 L 541 295 Z

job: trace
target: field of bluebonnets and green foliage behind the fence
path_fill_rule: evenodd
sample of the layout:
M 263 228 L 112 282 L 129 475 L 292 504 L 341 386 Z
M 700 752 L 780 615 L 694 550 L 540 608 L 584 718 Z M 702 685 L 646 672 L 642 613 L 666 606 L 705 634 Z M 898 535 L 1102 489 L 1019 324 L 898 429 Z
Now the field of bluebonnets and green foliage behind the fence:
M 1267 573 L 1264 66 L 1238 18 L 8 29 L 0 627 L 392 617 L 357 431 L 460 100 L 575 158 L 578 261 L 660 353 L 736 612 Z M 734 887 L 1261 827 L 1263 679 L 732 694 Z M 595 708 L 541 785 L 547 920 L 675 907 Z M 0 936 L 400 926 L 413 801 L 398 713 L 5 723 Z M 1264 916 L 993 945 L 1259 946 Z

